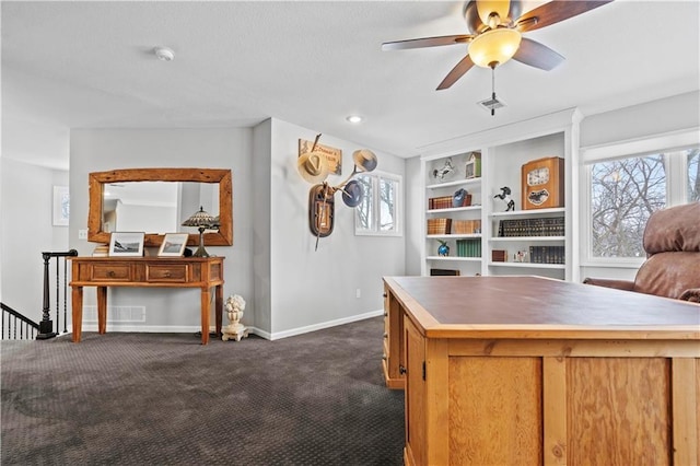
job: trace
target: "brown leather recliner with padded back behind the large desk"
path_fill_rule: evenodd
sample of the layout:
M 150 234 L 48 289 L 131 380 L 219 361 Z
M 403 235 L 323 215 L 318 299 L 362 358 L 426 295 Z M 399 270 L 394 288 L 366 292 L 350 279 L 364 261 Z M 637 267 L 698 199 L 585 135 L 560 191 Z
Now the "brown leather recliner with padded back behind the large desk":
M 584 283 L 700 303 L 700 202 L 658 210 L 644 229 L 646 260 L 634 281 L 586 278 Z

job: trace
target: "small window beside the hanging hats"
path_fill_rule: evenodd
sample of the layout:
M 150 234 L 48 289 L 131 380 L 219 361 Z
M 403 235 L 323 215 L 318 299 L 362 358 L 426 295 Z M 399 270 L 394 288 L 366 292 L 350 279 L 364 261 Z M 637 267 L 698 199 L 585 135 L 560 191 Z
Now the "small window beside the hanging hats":
M 355 209 L 355 234 L 399 236 L 401 177 L 366 173 L 359 175 L 357 179 L 364 197 Z

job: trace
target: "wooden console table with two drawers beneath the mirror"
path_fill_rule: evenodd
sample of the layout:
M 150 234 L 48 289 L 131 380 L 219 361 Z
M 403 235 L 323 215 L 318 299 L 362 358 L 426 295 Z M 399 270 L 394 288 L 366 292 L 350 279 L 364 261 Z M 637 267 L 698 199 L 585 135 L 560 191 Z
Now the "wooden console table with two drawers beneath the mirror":
M 107 288 L 199 288 L 201 343 L 209 342 L 211 288 L 215 287 L 217 335 L 223 312 L 223 257 L 70 257 L 72 263 L 73 341 L 83 322 L 83 287 L 97 287 L 97 331 L 107 330 Z

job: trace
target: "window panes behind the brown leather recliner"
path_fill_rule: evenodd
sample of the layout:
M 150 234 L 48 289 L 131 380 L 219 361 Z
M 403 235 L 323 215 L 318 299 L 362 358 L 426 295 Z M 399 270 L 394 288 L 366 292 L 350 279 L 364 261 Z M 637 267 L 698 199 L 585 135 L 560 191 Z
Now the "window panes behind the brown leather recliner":
M 693 147 L 591 163 L 588 258 L 644 258 L 649 217 L 667 205 L 700 200 L 699 160 Z

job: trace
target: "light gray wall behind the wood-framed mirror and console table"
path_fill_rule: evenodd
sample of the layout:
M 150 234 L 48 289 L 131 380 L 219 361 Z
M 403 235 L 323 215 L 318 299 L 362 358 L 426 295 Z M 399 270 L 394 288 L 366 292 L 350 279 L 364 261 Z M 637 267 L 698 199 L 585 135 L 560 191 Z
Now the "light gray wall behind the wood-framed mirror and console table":
M 253 260 L 253 130 L 215 129 L 77 129 L 71 131 L 70 246 L 90 255 L 93 243 L 78 240 L 88 225 L 88 174 L 114 168 L 206 167 L 230 168 L 233 174 L 233 246 L 208 246 L 209 254 L 225 256 L 224 296 L 237 293 L 247 301 L 244 323 L 255 325 Z M 110 289 L 109 305 L 145 306 L 145 323 L 108 326 L 107 331 L 196 331 L 200 328 L 199 292 L 195 289 Z M 88 288 L 85 304 L 95 303 Z M 213 313 L 212 313 L 213 314 Z M 213 322 L 213 315 L 212 315 Z M 94 325 L 93 325 L 94 327 Z M 85 329 L 91 327 L 85 325 Z

